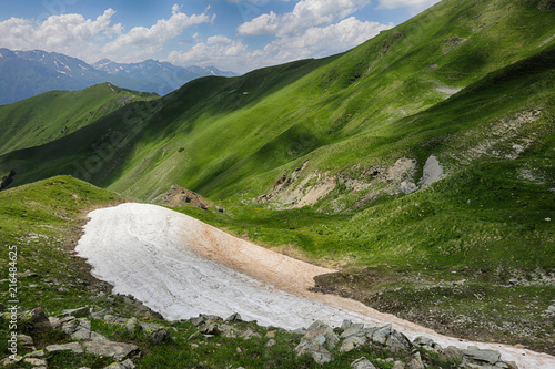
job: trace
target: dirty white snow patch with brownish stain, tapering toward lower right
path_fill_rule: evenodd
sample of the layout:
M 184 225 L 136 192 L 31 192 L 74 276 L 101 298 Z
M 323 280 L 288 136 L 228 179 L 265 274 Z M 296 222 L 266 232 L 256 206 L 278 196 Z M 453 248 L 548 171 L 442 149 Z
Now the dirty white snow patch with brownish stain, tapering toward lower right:
M 223 318 L 233 312 L 263 326 L 307 327 L 315 320 L 339 326 L 343 319 L 393 327 L 408 338 L 426 336 L 443 347 L 500 350 L 519 368 L 555 368 L 545 353 L 498 344 L 441 336 L 364 305 L 306 290 L 313 277 L 334 270 L 303 263 L 228 235 L 164 207 L 122 204 L 89 214 L 75 250 L 92 274 L 114 293 L 132 295 L 169 320 L 199 314 Z

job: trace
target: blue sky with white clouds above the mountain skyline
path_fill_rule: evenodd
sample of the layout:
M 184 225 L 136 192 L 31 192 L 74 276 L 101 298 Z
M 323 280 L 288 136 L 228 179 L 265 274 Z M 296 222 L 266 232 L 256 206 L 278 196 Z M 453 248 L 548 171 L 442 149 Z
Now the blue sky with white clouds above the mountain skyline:
M 349 50 L 438 0 L 0 2 L 0 48 L 246 71 Z

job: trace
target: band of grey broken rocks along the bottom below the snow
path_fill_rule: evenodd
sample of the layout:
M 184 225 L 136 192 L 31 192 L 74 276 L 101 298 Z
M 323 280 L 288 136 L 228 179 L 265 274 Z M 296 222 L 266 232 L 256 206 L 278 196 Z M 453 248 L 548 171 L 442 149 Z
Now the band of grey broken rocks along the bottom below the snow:
M 191 327 L 196 328 L 193 329 L 192 335 L 186 329 L 184 331 L 188 334 L 186 336 L 172 338 L 172 329 L 179 335 L 174 328 L 169 328 L 162 324 L 141 321 L 137 317 L 123 318 L 108 312 L 110 311 L 91 314 L 89 308 L 79 308 L 65 310 L 57 318 L 49 319 L 42 309 L 36 308 L 31 314 L 33 319 L 29 320 L 30 331 L 43 335 L 40 329 L 48 327 L 46 322 L 57 320 L 57 328 L 50 326 L 50 329 L 57 329 L 65 334 L 65 337 L 73 341 L 51 344 L 44 346 L 41 350 L 36 350 L 33 337 L 20 335 L 18 336 L 20 346 L 31 350 L 31 352 L 23 357 L 17 357 L 14 360 L 13 358 L 7 358 L 0 365 L 20 362 L 37 368 L 48 368 L 52 356 L 64 352 L 64 355 L 70 356 L 92 355 L 104 358 L 104 360 L 107 358 L 112 359 L 113 362 L 105 368 L 134 368 L 133 360 L 141 356 L 139 347 L 132 342 L 111 341 L 93 331 L 91 327 L 94 327 L 94 325 L 91 322 L 93 322 L 92 319 L 97 319 L 97 324 L 100 320 L 104 325 L 119 326 L 118 329 L 128 330 L 132 334 L 139 332 L 143 337 L 143 342 L 144 337 L 148 338 L 147 342 L 149 345 L 161 345 L 172 339 L 184 339 L 191 342 L 191 349 L 198 349 L 201 345 L 205 345 L 208 340 L 215 338 L 230 338 L 233 340 L 229 342 L 234 344 L 238 342 L 238 339 L 255 340 L 254 345 L 260 345 L 265 350 L 272 350 L 272 347 L 276 345 L 282 345 L 281 349 L 283 349 L 283 345 L 290 345 L 291 350 L 297 357 L 305 356 L 316 365 L 341 360 L 339 358 L 344 357 L 345 352 L 359 351 L 360 356 L 350 353 L 352 357 L 359 357 L 359 359 L 350 362 L 352 368 L 517 368 L 514 362 L 503 361 L 498 351 L 480 349 L 475 346 L 470 346 L 466 349 L 452 346 L 442 348 L 437 342 L 423 336 L 411 341 L 405 335 L 395 330 L 392 325 L 366 327 L 363 324 L 344 320 L 341 328 L 333 328 L 319 320 L 307 329 L 301 328 L 295 331 L 285 331 L 284 329 L 262 328 L 255 321 L 245 322 L 239 314 L 233 314 L 225 320 L 218 316 L 200 315 L 189 320 Z M 215 345 L 221 346 L 222 344 Z M 244 350 L 242 346 L 236 347 L 238 353 Z M 380 359 L 376 356 L 367 355 L 369 352 L 381 352 L 380 357 L 382 358 L 389 352 L 390 357 Z

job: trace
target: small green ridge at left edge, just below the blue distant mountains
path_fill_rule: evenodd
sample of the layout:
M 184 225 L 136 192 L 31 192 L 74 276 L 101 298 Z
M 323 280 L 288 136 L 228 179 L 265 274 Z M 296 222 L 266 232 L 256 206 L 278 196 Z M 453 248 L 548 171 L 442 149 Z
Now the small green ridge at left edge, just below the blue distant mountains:
M 0 105 L 0 154 L 58 140 L 125 104 L 154 98 L 158 95 L 102 83 Z

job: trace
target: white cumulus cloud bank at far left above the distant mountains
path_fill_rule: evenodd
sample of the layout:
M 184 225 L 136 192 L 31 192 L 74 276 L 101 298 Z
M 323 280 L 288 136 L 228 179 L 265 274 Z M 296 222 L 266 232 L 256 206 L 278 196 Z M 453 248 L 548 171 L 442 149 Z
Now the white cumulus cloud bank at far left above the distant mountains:
M 188 16 L 175 4 L 169 19 L 161 19 L 150 28 L 135 27 L 127 33 L 121 23 L 112 24 L 113 9 L 95 20 L 81 14 L 51 16 L 43 22 L 11 18 L 0 22 L 0 47 L 56 51 L 88 62 L 97 61 L 100 55 L 132 62 L 152 58 L 185 29 L 212 22 L 215 14 L 210 17 L 209 10 L 210 7 L 201 14 Z

